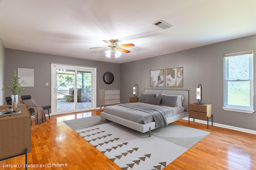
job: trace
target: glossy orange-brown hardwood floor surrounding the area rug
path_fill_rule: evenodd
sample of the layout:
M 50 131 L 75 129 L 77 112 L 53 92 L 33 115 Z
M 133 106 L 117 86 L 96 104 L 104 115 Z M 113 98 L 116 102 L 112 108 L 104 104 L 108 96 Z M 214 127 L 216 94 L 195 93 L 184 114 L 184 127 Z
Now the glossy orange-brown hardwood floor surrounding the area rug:
M 92 147 L 78 133 L 68 127 L 64 120 L 99 115 L 102 110 L 54 115 L 47 123 L 34 125 L 32 121 L 32 151 L 28 153 L 30 166 L 44 165 L 28 170 L 121 170 L 104 154 Z M 255 170 L 256 135 L 188 121 L 174 123 L 209 131 L 210 135 L 187 150 L 166 166 L 164 170 Z M 171 151 L 167 151 L 170 152 Z M 46 168 L 47 163 L 55 167 Z M 22 170 L 25 168 L 4 168 L 25 164 L 25 156 L 0 161 L 0 169 Z M 64 166 L 62 165 L 64 164 Z M 60 166 L 58 166 L 60 165 Z

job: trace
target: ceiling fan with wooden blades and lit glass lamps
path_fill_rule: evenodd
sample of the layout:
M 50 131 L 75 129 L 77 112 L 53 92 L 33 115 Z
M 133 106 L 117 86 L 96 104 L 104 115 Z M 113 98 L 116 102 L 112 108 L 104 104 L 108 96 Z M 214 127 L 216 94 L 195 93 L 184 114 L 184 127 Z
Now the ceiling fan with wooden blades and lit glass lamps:
M 130 53 L 130 51 L 126 50 L 126 49 L 122 49 L 121 47 L 133 47 L 134 44 L 130 43 L 130 44 L 122 44 L 122 45 L 118 45 L 116 43 L 116 40 L 114 39 L 111 39 L 110 41 L 106 41 L 106 40 L 103 40 L 107 45 L 108 47 L 94 47 L 94 48 L 90 48 L 90 49 L 98 49 L 98 48 L 110 48 L 108 51 L 106 51 L 106 57 L 110 57 L 111 55 L 111 52 L 115 52 L 115 56 L 116 58 L 119 57 L 122 53 Z

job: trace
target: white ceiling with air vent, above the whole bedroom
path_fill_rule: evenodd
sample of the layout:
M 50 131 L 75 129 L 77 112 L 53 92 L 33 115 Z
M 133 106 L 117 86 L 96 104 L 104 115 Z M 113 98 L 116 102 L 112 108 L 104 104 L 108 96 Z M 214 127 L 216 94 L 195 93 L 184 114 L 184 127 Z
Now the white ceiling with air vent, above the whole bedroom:
M 80 59 L 126 63 L 255 34 L 256 0 L 0 0 L 6 48 Z M 135 46 L 119 58 L 89 49 L 110 39 Z

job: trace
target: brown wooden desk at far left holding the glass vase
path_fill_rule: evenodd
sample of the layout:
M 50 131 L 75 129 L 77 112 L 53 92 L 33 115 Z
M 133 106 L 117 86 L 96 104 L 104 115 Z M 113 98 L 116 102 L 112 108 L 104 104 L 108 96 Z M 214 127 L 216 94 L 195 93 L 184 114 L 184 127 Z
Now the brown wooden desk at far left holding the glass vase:
M 11 105 L 0 106 L 0 111 Z M 0 160 L 31 152 L 31 116 L 25 104 L 21 114 L 0 118 Z

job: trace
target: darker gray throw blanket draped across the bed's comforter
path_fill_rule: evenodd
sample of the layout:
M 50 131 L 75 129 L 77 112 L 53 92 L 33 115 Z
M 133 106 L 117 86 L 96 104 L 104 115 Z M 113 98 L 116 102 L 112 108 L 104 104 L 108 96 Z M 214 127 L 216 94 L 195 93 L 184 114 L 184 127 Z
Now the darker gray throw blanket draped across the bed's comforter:
M 136 110 L 150 113 L 153 116 L 154 121 L 156 122 L 156 127 L 163 127 L 165 125 L 168 125 L 166 117 L 165 117 L 166 114 L 161 109 L 155 108 L 153 106 L 145 107 L 145 106 L 131 105 L 131 104 L 118 104 L 118 105 L 122 106 L 122 107 L 128 107 L 131 109 L 136 109 Z

